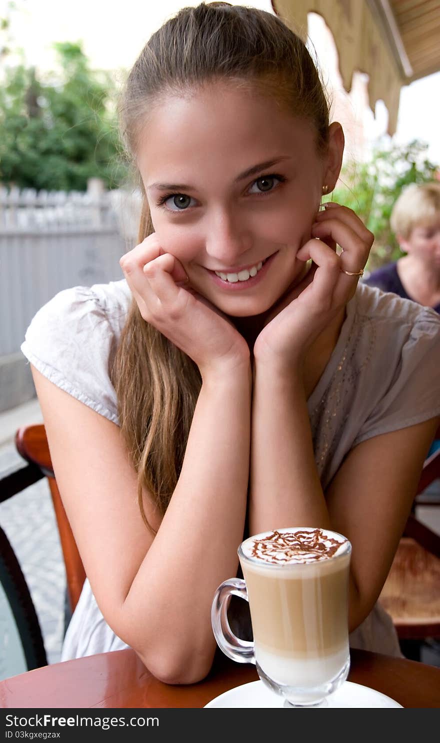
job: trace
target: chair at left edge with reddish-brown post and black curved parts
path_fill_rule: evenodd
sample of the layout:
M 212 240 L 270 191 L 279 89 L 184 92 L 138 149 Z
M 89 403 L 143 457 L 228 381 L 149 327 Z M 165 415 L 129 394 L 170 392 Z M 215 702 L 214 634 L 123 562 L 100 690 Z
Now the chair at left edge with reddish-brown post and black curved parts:
M 83 588 L 85 571 L 56 486 L 45 426 L 39 424 L 20 428 L 16 432 L 16 448 L 28 465 L 1 479 L 0 502 L 18 495 L 43 477 L 48 478 L 65 564 L 68 600 L 66 613 L 70 617 L 77 606 Z M 12 632 L 16 652 L 19 654 L 22 652 L 28 670 L 47 665 L 42 632 L 28 584 L 13 548 L 1 528 L 0 585 L 2 588 L 0 598 L 3 598 L 3 606 L 10 610 L 15 622 L 15 627 L 12 629 L 10 623 L 7 631 Z

